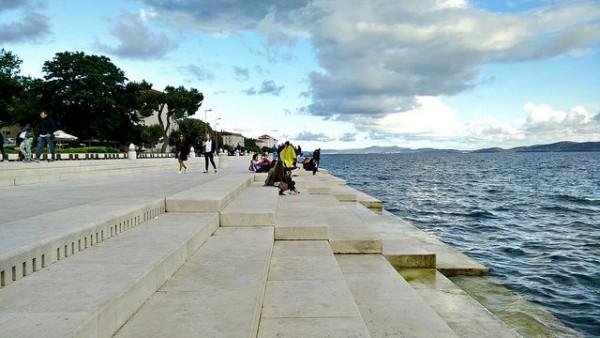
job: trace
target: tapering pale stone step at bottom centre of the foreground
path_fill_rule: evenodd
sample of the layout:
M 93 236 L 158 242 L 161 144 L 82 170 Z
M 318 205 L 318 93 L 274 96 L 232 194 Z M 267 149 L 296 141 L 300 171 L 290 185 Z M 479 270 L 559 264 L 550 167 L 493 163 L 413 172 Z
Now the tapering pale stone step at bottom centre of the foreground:
M 258 337 L 369 337 L 327 241 L 277 241 Z

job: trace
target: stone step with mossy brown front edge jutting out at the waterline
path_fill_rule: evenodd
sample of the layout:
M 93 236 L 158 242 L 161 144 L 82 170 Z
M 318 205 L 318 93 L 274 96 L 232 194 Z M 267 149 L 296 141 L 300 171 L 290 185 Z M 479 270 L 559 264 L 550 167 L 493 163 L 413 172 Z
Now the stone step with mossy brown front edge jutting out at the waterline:
M 397 264 L 397 268 L 431 267 L 435 256 L 435 267 L 446 276 L 478 276 L 488 272 L 485 266 L 441 242 L 433 234 L 389 212 L 376 214 L 360 204 L 347 208 L 384 239 L 383 254 Z

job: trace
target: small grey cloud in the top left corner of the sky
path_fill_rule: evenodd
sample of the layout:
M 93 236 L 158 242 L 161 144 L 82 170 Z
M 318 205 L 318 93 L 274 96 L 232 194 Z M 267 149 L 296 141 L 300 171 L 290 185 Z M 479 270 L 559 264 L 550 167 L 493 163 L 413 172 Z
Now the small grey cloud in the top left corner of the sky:
M 38 41 L 50 33 L 49 19 L 28 0 L 0 0 L 0 13 L 15 11 L 11 22 L 0 24 L 0 43 Z

